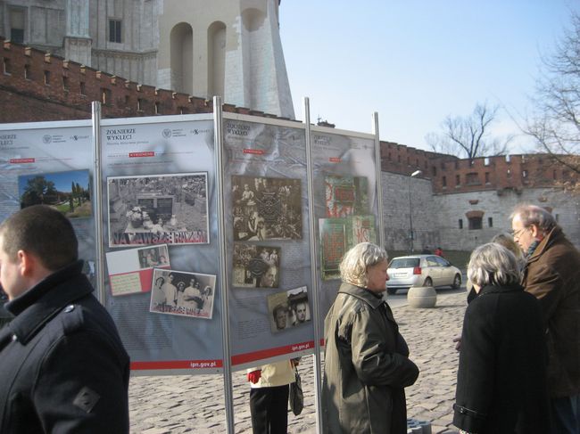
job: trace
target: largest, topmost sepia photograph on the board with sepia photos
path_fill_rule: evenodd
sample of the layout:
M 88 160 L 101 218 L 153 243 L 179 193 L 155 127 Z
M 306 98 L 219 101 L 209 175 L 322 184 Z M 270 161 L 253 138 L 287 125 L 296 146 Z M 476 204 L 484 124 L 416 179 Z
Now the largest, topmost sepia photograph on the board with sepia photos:
M 302 239 L 300 179 L 232 176 L 234 241 Z

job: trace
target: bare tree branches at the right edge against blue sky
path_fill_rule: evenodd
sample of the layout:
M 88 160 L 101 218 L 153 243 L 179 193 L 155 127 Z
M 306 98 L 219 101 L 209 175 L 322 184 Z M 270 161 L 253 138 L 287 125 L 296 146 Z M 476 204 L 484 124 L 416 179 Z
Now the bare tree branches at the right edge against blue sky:
M 554 53 L 543 59 L 537 80 L 535 112 L 524 132 L 539 151 L 580 175 L 580 15 L 573 12 Z M 566 181 L 566 180 L 565 180 Z

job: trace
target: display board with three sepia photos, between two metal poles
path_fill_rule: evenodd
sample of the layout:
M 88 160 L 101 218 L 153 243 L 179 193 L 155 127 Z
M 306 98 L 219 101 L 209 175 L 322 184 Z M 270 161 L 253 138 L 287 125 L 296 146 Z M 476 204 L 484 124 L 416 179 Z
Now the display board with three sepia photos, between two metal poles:
M 230 348 L 241 369 L 314 348 L 306 138 L 293 122 L 224 118 Z

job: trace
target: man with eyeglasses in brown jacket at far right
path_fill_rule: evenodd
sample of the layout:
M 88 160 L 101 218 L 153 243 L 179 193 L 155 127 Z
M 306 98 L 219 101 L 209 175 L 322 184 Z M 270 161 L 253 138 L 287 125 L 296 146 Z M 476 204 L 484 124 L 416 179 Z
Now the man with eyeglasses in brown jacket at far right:
M 546 209 L 519 205 L 510 216 L 526 255 L 522 285 L 540 300 L 550 356 L 553 434 L 580 433 L 580 252 Z

